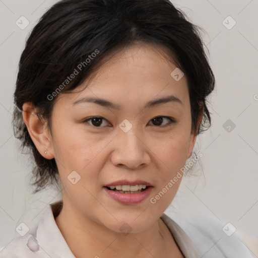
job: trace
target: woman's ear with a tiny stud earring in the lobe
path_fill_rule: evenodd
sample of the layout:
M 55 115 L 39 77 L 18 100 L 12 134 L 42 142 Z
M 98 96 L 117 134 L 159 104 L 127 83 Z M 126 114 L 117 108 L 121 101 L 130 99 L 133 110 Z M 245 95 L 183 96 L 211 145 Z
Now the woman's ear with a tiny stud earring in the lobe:
M 53 159 L 52 139 L 46 121 L 38 118 L 31 102 L 24 103 L 22 109 L 23 120 L 37 150 L 44 158 Z

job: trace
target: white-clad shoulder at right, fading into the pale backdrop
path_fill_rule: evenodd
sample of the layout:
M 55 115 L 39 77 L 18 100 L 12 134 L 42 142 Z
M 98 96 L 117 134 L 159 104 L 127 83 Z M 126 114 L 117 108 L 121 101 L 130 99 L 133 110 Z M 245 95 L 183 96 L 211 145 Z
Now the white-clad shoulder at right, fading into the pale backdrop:
M 202 257 L 253 258 L 231 223 L 202 215 L 188 219 L 179 216 L 171 217 L 173 220 L 169 219 L 187 234 L 193 245 L 203 255 Z

